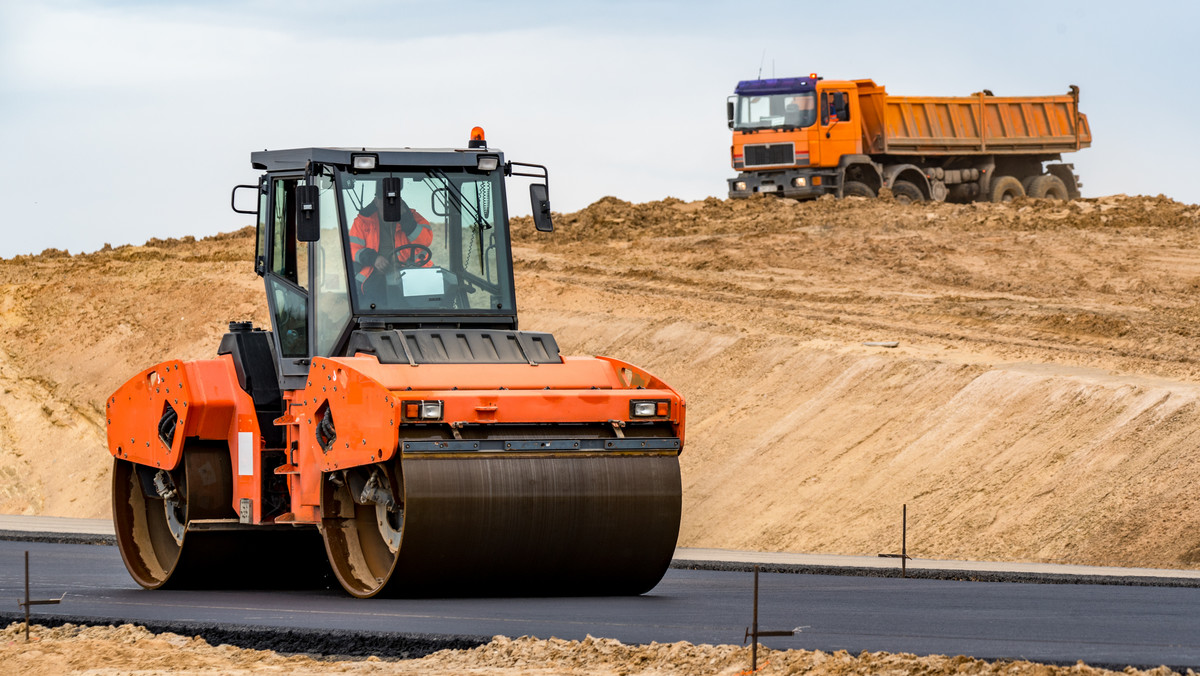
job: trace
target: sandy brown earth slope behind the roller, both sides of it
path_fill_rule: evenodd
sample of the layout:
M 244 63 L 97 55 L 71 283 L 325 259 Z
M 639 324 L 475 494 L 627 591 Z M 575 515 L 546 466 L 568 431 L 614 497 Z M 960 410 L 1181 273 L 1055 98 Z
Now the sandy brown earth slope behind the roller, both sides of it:
M 515 223 L 522 328 L 688 397 L 680 544 L 1200 566 L 1200 207 L 630 205 Z M 107 514 L 102 400 L 265 321 L 248 232 L 0 262 L 0 510 Z M 865 341 L 899 341 L 894 349 Z

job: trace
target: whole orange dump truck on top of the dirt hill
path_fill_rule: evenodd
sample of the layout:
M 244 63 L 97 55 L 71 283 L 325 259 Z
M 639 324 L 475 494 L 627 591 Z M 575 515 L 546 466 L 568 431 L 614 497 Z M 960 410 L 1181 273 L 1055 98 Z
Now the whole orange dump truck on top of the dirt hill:
M 1087 148 L 1079 88 L 1061 96 L 892 96 L 869 79 L 809 77 L 738 83 L 730 197 L 757 192 L 898 202 L 1074 199 L 1062 154 Z

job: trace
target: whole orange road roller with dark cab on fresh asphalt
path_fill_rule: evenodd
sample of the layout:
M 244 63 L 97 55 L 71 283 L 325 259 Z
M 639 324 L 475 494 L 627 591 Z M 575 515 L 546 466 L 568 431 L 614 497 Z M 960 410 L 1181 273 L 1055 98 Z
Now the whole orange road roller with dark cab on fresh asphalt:
M 461 149 L 251 154 L 269 330 L 107 401 L 113 521 L 148 588 L 640 594 L 679 533 L 683 397 L 517 329 L 506 177 Z M 254 208 L 247 197 L 257 199 Z M 322 549 L 324 551 L 322 551 Z

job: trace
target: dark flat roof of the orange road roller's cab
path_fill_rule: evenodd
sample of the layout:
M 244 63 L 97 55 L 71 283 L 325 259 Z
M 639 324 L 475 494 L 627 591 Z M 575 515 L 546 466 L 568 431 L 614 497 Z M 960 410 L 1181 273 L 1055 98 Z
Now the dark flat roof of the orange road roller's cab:
M 292 148 L 256 150 L 250 163 L 268 172 L 304 171 L 310 162 L 350 167 L 356 155 L 373 155 L 379 167 L 474 167 L 480 155 L 503 156 L 488 148 Z M 503 161 L 503 157 L 502 157 Z

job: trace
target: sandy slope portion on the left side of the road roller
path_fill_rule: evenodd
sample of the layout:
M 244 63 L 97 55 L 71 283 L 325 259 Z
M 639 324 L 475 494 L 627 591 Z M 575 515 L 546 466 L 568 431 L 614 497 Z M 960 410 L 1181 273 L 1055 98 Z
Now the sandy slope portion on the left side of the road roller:
M 266 319 L 253 228 L 0 261 L 0 512 L 108 516 L 104 397 Z

